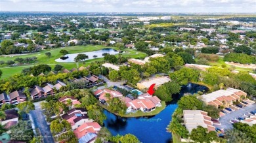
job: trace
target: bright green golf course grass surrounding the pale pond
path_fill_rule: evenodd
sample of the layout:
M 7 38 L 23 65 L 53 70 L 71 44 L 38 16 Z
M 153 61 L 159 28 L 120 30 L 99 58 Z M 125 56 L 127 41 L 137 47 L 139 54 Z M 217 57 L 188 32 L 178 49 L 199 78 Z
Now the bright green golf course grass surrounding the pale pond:
M 8 66 L 0 66 L 1 71 L 3 71 L 3 75 L 1 79 L 8 78 L 12 74 L 20 73 L 22 69 L 32 67 L 33 65 L 38 65 L 38 64 L 48 64 L 51 67 L 54 67 L 56 64 L 60 64 L 64 66 L 66 69 L 72 69 L 76 67 L 75 63 L 58 63 L 54 61 L 55 59 L 58 59 L 62 55 L 59 53 L 60 50 L 64 49 L 68 51 L 68 54 L 75 54 L 79 52 L 91 52 L 91 51 L 96 51 L 96 50 L 102 50 L 103 48 L 113 48 L 115 50 L 118 50 L 116 47 L 106 47 L 106 46 L 101 46 L 101 45 L 88 45 L 88 46 L 69 46 L 65 48 L 54 48 L 54 49 L 49 49 L 49 50 L 43 50 L 41 52 L 33 53 L 33 54 L 27 54 L 27 55 L 21 55 L 21 56 L 0 56 L 0 61 L 7 61 L 7 60 L 12 60 L 16 59 L 16 57 L 37 57 L 37 62 L 33 64 L 27 64 L 27 65 L 20 65 L 17 67 L 8 67 Z M 51 57 L 45 56 L 46 52 L 51 52 Z M 124 57 L 133 57 L 133 58 L 144 58 L 146 57 L 146 54 L 143 52 L 139 52 L 137 50 L 133 49 L 125 49 L 125 53 L 122 54 Z M 80 66 L 87 66 L 93 61 L 102 61 L 103 58 L 96 58 L 96 59 L 89 59 L 85 61 L 85 64 L 79 63 Z

